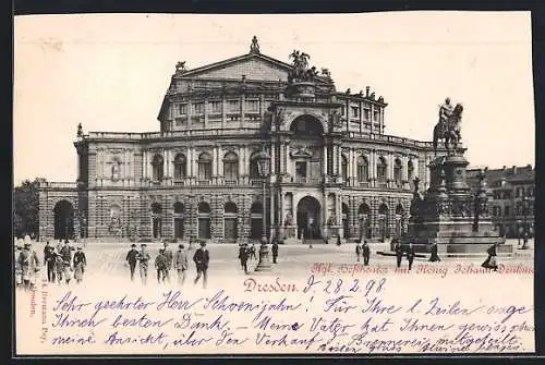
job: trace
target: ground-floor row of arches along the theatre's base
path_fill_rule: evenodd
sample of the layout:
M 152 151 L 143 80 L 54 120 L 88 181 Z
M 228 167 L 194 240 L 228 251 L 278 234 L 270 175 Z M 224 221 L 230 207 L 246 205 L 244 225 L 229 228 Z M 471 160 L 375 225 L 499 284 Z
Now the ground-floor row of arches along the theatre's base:
M 379 197 L 342 197 L 339 219 L 331 221 L 330 202 L 303 195 L 293 206 L 280 204 L 278 214 L 266 199 L 266 235 L 284 239 L 320 240 L 341 234 L 343 239 L 380 241 L 400 235 L 407 229 L 409 200 Z M 278 202 L 272 199 L 277 205 Z M 55 221 L 51 235 L 56 239 L 74 239 L 76 235 L 110 239 L 148 238 L 152 240 L 191 236 L 218 242 L 259 240 L 263 234 L 263 202 L 258 195 L 201 196 L 168 203 L 168 199 L 149 202 L 147 209 L 128 211 L 126 205 L 104 203 L 104 226 L 86 227 L 77 221 L 77 214 L 69 200 L 59 200 L 53 207 Z M 142 207 L 142 206 L 141 206 Z M 147 211 L 147 214 L 146 214 Z M 280 217 L 284 214 L 283 218 Z M 93 219 L 93 217 L 92 217 Z M 96 219 L 96 218 L 95 218 Z M 276 222 L 279 222 L 278 227 Z M 87 231 L 84 233 L 83 228 Z

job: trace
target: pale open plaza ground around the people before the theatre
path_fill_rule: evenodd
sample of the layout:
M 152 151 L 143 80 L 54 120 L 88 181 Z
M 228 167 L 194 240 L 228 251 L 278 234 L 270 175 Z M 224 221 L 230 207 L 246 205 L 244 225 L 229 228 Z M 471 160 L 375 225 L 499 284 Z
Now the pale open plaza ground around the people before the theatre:
M 512 240 L 509 243 L 517 247 L 517 240 Z M 130 248 L 131 243 L 95 243 L 87 242 L 84 252 L 87 258 L 87 267 L 85 269 L 85 276 L 82 285 L 89 284 L 104 284 L 104 285 L 123 285 L 131 284 L 129 266 L 125 263 L 126 252 Z M 140 246 L 140 244 L 138 244 Z M 154 268 L 154 260 L 158 254 L 159 247 L 162 245 L 160 243 L 148 244 L 148 252 L 152 256 L 149 270 L 148 270 L 148 285 L 157 285 L 156 281 L 156 270 Z M 187 247 L 187 245 L 185 244 Z M 34 247 L 38 253 L 40 260 L 43 260 L 44 244 L 35 243 Z M 178 250 L 178 244 L 170 244 L 170 250 L 175 252 Z M 354 264 L 363 264 L 362 261 L 356 261 L 355 246 L 354 244 L 342 244 L 337 246 L 336 244 L 314 244 L 313 247 L 303 244 L 291 244 L 281 245 L 279 247 L 278 264 L 271 264 L 271 270 L 268 272 L 254 272 L 254 268 L 257 265 L 257 260 L 249 260 L 249 275 L 244 275 L 241 269 L 240 260 L 238 259 L 239 246 L 235 244 L 215 244 L 210 243 L 207 245 L 210 253 L 210 264 L 208 270 L 208 284 L 209 285 L 221 285 L 223 281 L 229 281 L 230 283 L 234 281 L 242 282 L 249 277 L 280 277 L 282 279 L 293 279 L 301 280 L 306 278 L 308 275 L 316 270 L 319 265 L 319 270 L 325 270 L 327 265 L 331 264 L 332 271 L 327 273 L 331 277 L 335 276 L 353 276 L 361 275 L 360 272 L 351 272 L 350 270 L 354 267 Z M 530 247 L 533 247 L 533 242 L 530 242 Z M 189 275 L 186 279 L 186 285 L 193 285 L 192 280 L 195 277 L 195 265 L 192 261 L 193 253 L 197 248 L 195 244 L 190 251 L 190 264 L 189 264 Z M 256 244 L 256 250 L 258 251 L 259 245 Z M 377 252 L 390 252 L 389 243 L 375 243 L 371 245 L 371 261 L 370 266 L 366 268 L 366 272 L 379 272 L 374 271 L 377 268 L 387 268 L 388 272 L 395 272 L 396 268 L 396 257 L 383 256 L 377 254 Z M 269 254 L 270 255 L 270 254 Z M 413 264 L 413 270 L 411 273 L 417 271 L 419 265 L 428 265 L 436 267 L 448 267 L 455 269 L 459 265 L 467 267 L 472 264 L 472 267 L 480 268 L 481 263 L 486 258 L 486 254 L 483 253 L 482 256 L 473 257 L 441 257 L 441 261 L 437 264 L 428 263 L 426 258 L 416 258 Z M 514 267 L 517 265 L 523 265 L 526 268 L 533 268 L 533 248 L 531 250 L 516 250 L 514 255 L 511 257 L 499 256 L 498 263 L 509 267 Z M 339 268 L 346 265 L 342 273 L 339 273 Z M 408 261 L 403 258 L 402 268 L 408 267 Z M 40 276 L 46 278 L 46 268 L 43 267 Z M 316 272 L 323 276 L 322 271 Z M 453 272 L 453 271 L 452 271 Z M 173 276 L 173 270 L 171 276 Z M 138 269 L 136 268 L 135 282 L 133 284 L 140 284 Z M 76 285 L 74 280 L 69 287 Z M 63 287 L 65 287 L 63 284 Z

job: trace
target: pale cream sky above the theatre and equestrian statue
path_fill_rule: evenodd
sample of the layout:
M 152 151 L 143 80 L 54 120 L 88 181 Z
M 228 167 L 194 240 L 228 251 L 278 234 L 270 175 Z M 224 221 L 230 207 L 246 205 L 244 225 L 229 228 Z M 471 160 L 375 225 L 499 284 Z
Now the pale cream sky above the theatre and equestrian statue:
M 464 105 L 471 166 L 534 165 L 530 12 L 15 17 L 14 182 L 76 179 L 76 125 L 154 132 L 177 61 L 190 69 L 302 50 L 337 89 L 372 87 L 386 134 L 431 141 L 446 96 Z

